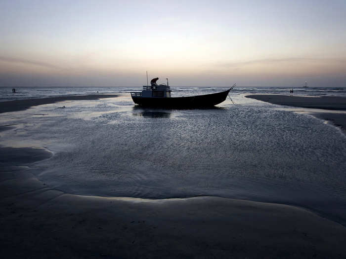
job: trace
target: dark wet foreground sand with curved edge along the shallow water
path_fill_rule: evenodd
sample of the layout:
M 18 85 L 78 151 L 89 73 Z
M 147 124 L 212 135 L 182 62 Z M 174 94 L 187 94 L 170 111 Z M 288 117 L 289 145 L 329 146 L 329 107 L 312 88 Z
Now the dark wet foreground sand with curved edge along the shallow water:
M 54 190 L 51 154 L 0 148 L 3 258 L 345 258 L 346 227 L 287 205 L 218 197 L 143 200 Z

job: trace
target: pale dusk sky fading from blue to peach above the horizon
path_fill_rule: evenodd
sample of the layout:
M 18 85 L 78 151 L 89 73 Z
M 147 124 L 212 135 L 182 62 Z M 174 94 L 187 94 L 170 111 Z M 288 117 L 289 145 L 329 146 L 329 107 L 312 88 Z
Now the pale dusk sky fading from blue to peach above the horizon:
M 346 87 L 346 0 L 1 0 L 0 86 Z

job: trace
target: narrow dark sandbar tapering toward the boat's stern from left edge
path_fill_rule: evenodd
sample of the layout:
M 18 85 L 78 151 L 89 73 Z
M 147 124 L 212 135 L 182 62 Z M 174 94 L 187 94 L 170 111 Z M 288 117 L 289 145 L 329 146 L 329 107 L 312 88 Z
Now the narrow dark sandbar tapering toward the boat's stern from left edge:
M 74 100 L 98 100 L 102 98 L 117 97 L 116 94 L 92 94 L 92 95 L 70 95 L 70 96 L 56 96 L 47 98 L 25 99 L 25 100 L 13 100 L 7 102 L 0 102 L 0 113 L 9 111 L 23 111 L 33 106 L 43 104 L 53 104 L 62 101 L 74 101 Z

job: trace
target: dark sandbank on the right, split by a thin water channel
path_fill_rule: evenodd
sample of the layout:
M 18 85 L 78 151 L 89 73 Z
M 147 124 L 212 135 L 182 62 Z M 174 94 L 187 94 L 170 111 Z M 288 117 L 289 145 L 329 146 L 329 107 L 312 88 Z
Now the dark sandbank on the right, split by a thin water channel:
M 323 110 L 346 110 L 346 98 L 345 97 L 303 97 L 303 96 L 287 96 L 287 95 L 247 95 L 247 98 L 256 99 L 259 101 L 267 102 L 270 104 L 313 108 Z M 340 127 L 346 131 L 346 113 L 336 112 L 312 112 L 313 116 L 330 121 L 337 127 Z

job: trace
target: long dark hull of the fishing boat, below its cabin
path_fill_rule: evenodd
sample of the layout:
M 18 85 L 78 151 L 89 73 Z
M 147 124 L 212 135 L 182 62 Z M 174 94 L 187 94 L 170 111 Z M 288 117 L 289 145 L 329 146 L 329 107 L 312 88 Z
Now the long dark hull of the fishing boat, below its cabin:
M 226 100 L 229 91 L 230 89 L 215 94 L 170 98 L 132 96 L 132 100 L 135 104 L 143 107 L 207 108 Z

